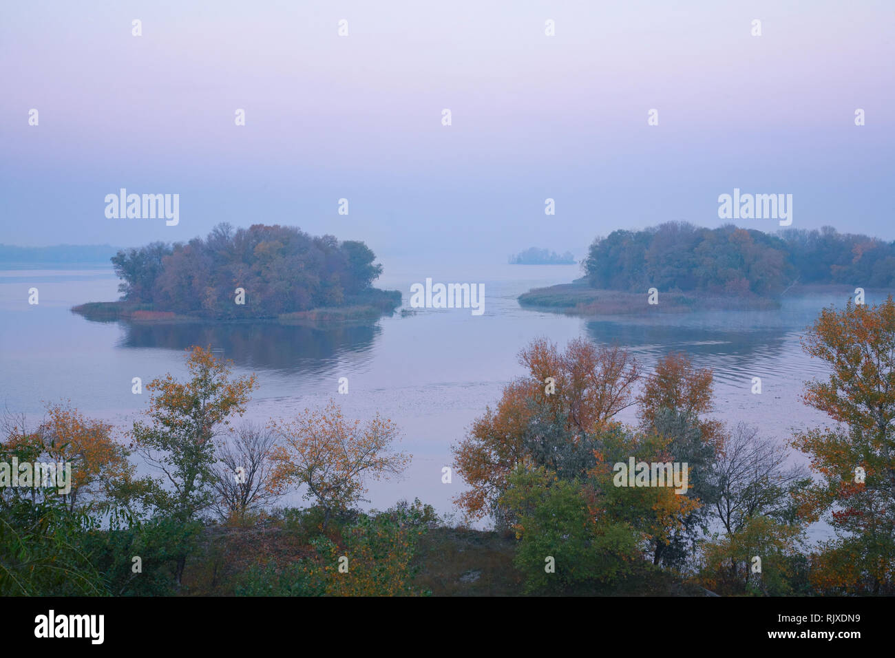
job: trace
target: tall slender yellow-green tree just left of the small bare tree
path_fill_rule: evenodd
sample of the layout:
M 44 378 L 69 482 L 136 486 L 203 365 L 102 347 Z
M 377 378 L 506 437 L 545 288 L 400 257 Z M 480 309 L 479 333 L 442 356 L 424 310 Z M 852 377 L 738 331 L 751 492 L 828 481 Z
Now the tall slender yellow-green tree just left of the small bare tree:
M 254 375 L 233 379 L 210 346 L 193 346 L 186 367 L 191 377 L 185 382 L 168 373 L 147 384 L 147 421 L 134 422 L 131 432 L 133 446 L 162 474 L 147 482 L 144 504 L 184 527 L 213 503 L 214 438 L 232 415 L 243 414 L 256 381 Z M 179 556 L 178 585 L 186 557 Z

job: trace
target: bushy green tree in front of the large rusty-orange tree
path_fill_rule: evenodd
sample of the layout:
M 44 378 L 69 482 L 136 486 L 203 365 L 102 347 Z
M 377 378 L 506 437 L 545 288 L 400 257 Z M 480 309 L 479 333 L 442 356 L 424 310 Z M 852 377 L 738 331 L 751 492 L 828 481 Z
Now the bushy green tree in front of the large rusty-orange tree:
M 656 545 L 670 542 L 699 500 L 666 486 L 619 486 L 615 465 L 665 462 L 669 439 L 620 423 L 588 440 L 592 466 L 553 470 L 526 456 L 510 474 L 500 506 L 507 508 L 519 544 L 516 566 L 532 591 L 574 593 L 617 585 L 652 568 Z M 562 465 L 568 455 L 559 457 Z M 624 478 L 627 481 L 627 478 Z M 544 571 L 553 558 L 552 574 Z

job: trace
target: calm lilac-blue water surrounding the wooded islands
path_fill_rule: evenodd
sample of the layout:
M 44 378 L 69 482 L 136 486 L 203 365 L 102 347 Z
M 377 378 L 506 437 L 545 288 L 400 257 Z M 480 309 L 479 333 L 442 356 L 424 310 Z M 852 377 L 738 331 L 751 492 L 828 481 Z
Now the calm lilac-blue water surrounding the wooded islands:
M 369 497 L 384 508 L 418 496 L 442 512 L 464 484 L 441 483 L 451 443 L 493 405 L 508 380 L 522 373 L 516 354 L 532 338 L 558 343 L 584 336 L 628 346 L 651 365 L 669 350 L 683 350 L 716 378 L 717 415 L 746 421 L 785 440 L 794 428 L 820 424 L 823 415 L 803 406 L 803 381 L 823 367 L 801 352 L 798 339 L 832 295 L 788 302 L 775 312 L 704 312 L 647 319 L 582 320 L 527 311 L 517 295 L 535 286 L 566 283 L 577 266 L 450 268 L 426 266 L 387 272 L 381 287 L 399 289 L 409 303 L 412 283 L 482 282 L 485 313 L 469 309 L 419 310 L 382 318 L 370 326 L 307 329 L 272 324 L 133 327 L 93 322 L 72 305 L 117 298 L 111 269 L 0 270 L 0 405 L 37 420 L 43 401 L 71 399 L 82 413 L 127 427 L 146 405 L 132 395 L 131 380 L 145 384 L 165 372 L 182 374 L 183 349 L 195 344 L 224 350 L 237 373 L 255 372 L 260 388 L 246 417 L 266 420 L 337 398 L 345 413 L 367 418 L 376 411 L 403 431 L 402 448 L 413 463 L 401 481 L 373 483 Z M 38 305 L 28 289 L 38 287 Z M 868 298 L 868 302 L 875 301 Z M 763 394 L 751 393 L 762 378 Z M 338 379 L 350 392 L 337 395 Z M 633 421 L 633 410 L 623 420 Z M 794 457 L 798 458 L 798 457 Z M 296 502 L 298 499 L 286 499 Z M 813 534 L 817 534 L 816 531 Z

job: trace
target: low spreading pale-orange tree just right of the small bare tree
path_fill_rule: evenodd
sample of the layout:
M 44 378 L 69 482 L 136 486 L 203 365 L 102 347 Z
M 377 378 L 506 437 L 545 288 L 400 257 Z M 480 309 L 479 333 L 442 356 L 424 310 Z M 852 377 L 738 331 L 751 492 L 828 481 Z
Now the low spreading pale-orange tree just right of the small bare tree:
M 392 450 L 395 423 L 376 414 L 367 423 L 348 420 L 330 400 L 323 409 L 305 409 L 291 421 L 274 423 L 280 444 L 272 452 L 271 488 L 304 485 L 329 518 L 363 500 L 365 483 L 400 474 L 410 455 Z

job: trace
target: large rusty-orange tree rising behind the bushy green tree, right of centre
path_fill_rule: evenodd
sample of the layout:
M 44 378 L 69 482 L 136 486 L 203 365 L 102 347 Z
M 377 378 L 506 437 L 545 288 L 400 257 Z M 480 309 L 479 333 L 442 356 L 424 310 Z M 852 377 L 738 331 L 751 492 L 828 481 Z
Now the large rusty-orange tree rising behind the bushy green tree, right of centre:
M 584 446 L 634 404 L 640 377 L 635 358 L 618 346 L 596 346 L 577 338 L 565 350 L 544 338 L 519 353 L 524 376 L 505 387 L 496 408 L 486 408 L 465 439 L 453 447 L 454 463 L 471 489 L 456 504 L 467 517 L 490 514 L 500 526 L 511 523 L 499 505 L 507 478 L 525 458 L 566 468 L 577 461 L 579 474 L 592 460 Z

